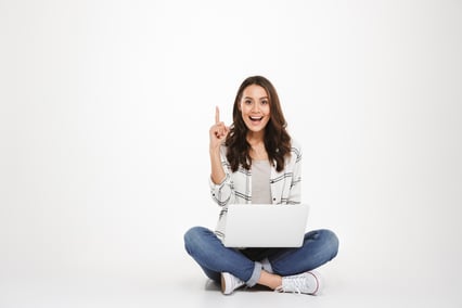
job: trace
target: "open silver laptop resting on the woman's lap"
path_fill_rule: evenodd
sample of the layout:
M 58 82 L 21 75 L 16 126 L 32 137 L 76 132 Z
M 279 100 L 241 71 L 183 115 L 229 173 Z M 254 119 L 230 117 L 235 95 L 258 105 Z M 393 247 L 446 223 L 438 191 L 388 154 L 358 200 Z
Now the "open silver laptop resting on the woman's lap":
M 224 227 L 227 247 L 300 247 L 308 204 L 230 204 Z

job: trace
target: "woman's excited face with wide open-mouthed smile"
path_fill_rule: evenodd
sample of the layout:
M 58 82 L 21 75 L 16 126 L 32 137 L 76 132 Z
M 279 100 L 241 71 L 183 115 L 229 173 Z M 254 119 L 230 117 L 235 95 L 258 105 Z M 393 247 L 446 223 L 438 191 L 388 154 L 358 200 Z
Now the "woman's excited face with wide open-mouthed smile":
M 242 92 L 239 110 L 248 130 L 253 132 L 264 131 L 270 119 L 267 91 L 257 85 L 248 86 Z

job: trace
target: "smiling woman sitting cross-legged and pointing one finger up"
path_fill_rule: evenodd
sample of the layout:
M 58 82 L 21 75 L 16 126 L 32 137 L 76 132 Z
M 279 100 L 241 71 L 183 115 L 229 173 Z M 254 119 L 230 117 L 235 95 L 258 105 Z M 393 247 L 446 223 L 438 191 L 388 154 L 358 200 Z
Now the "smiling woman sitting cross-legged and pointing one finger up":
M 299 248 L 235 249 L 221 242 L 229 204 L 300 203 L 301 151 L 286 131 L 272 84 L 262 76 L 246 78 L 234 100 L 233 125 L 220 121 L 217 107 L 209 138 L 210 192 L 221 210 L 215 231 L 193 227 L 184 234 L 188 254 L 221 284 L 223 294 L 256 284 L 317 294 L 321 281 L 313 269 L 332 260 L 338 251 L 332 231 L 306 233 Z

